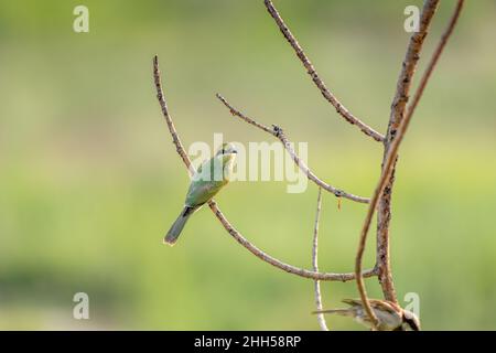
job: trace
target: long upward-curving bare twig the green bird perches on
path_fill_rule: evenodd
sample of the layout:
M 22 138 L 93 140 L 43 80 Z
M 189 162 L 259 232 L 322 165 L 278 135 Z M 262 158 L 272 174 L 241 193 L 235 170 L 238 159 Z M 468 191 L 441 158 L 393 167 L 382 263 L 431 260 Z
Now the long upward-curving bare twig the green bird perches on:
M 153 77 L 157 87 L 157 97 L 159 99 L 160 106 L 162 107 L 162 114 L 168 122 L 169 131 L 172 135 L 173 143 L 175 145 L 175 149 L 177 153 L 180 154 L 181 159 L 183 160 L 186 168 L 191 168 L 191 160 L 187 157 L 186 151 L 184 150 L 184 147 L 181 142 L 181 139 L 177 135 L 177 131 L 175 130 L 174 124 L 172 121 L 171 116 L 169 115 L 169 110 L 166 108 L 165 98 L 162 90 L 162 83 L 160 77 L 160 69 L 159 69 L 159 58 L 155 55 L 153 57 Z M 208 206 L 211 207 L 212 212 L 214 212 L 217 220 L 222 223 L 224 228 L 238 242 L 241 244 L 246 249 L 248 249 L 251 254 L 257 256 L 259 259 L 279 268 L 282 269 L 289 274 L 293 274 L 300 277 L 310 278 L 314 280 L 336 280 L 336 281 L 348 281 L 355 279 L 355 272 L 344 272 L 344 274 L 334 274 L 334 272 L 317 272 L 317 271 L 311 271 L 308 269 L 299 268 L 285 263 L 282 263 L 278 260 L 277 258 L 263 253 L 258 247 L 256 247 L 254 244 L 248 242 L 230 223 L 227 221 L 227 218 L 224 216 L 219 207 L 217 206 L 217 203 L 214 200 L 211 200 L 208 202 Z M 373 269 L 368 269 L 362 274 L 364 277 L 373 277 L 377 275 L 377 270 L 374 267 Z

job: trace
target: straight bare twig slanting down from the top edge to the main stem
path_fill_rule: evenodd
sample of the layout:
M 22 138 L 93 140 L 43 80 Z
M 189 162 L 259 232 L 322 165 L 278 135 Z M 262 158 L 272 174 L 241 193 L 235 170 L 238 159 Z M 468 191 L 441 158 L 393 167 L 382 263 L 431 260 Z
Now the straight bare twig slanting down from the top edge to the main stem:
M 315 71 L 315 67 L 312 65 L 312 62 L 306 56 L 303 49 L 298 43 L 294 35 L 291 33 L 289 28 L 285 25 L 284 21 L 282 20 L 281 15 L 279 14 L 278 10 L 274 8 L 272 1 L 265 0 L 265 4 L 267 10 L 269 11 L 270 15 L 276 21 L 277 25 L 279 26 L 280 31 L 287 39 L 287 41 L 290 43 L 290 45 L 293 47 L 294 52 L 296 53 L 296 56 L 300 58 L 301 63 L 305 67 L 308 74 L 310 77 L 312 77 L 313 83 L 315 86 L 321 90 L 322 95 L 325 99 L 327 99 L 328 103 L 331 103 L 336 111 L 345 118 L 346 121 L 348 121 L 352 125 L 356 125 L 365 135 L 371 137 L 376 141 L 384 141 L 384 136 L 374 130 L 371 127 L 367 126 L 365 122 L 363 122 L 360 119 L 355 117 L 348 109 L 346 109 L 343 104 L 328 90 L 324 82 L 319 76 L 317 72 Z

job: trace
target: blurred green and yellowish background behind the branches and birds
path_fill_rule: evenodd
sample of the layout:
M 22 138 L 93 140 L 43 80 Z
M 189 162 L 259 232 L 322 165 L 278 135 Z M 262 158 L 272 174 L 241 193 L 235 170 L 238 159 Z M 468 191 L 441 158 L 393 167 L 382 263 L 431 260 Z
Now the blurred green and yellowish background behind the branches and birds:
M 160 56 L 188 146 L 270 141 L 216 92 L 309 142 L 324 180 L 369 195 L 381 146 L 346 124 L 313 86 L 262 1 L 0 1 L 0 329 L 316 330 L 313 282 L 260 261 L 198 212 L 174 248 L 162 236 L 188 184 L 155 99 Z M 327 86 L 385 131 L 421 1 L 276 2 Z M 420 68 L 454 1 L 442 1 Z M 392 268 L 417 292 L 427 330 L 496 329 L 496 3 L 467 1 L 402 147 L 393 194 Z M 417 77 L 418 78 L 418 77 Z M 217 201 L 257 246 L 310 268 L 316 188 L 237 182 Z M 353 270 L 366 206 L 324 194 L 320 267 Z M 366 266 L 374 263 L 374 235 Z M 367 280 L 379 297 L 376 279 Z M 355 282 L 322 284 L 326 308 Z M 90 320 L 72 299 L 89 296 Z M 488 309 L 489 308 L 489 309 Z M 328 318 L 334 330 L 362 329 Z

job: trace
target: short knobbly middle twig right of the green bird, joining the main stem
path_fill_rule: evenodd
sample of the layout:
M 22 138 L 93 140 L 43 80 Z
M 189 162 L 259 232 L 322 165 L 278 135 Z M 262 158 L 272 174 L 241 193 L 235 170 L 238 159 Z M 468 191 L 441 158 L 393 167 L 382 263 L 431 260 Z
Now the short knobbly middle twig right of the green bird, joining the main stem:
M 293 160 L 293 162 L 296 164 L 298 168 L 300 168 L 300 170 L 306 175 L 306 178 L 311 181 L 313 181 L 316 185 L 319 185 L 320 188 L 324 189 L 325 191 L 333 193 L 334 195 L 336 195 L 337 197 L 344 197 L 344 199 L 348 199 L 355 202 L 359 202 L 359 203 L 368 203 L 370 200 L 367 197 L 363 197 L 363 196 L 357 196 L 354 194 L 351 194 L 346 191 L 343 191 L 341 189 L 334 188 L 333 185 L 327 184 L 326 182 L 322 181 L 317 175 L 315 175 L 315 173 L 313 173 L 310 168 L 306 165 L 306 163 L 304 161 L 301 160 L 301 158 L 296 154 L 296 152 L 294 151 L 293 148 L 293 143 L 291 143 L 288 138 L 285 137 L 284 132 L 282 131 L 282 129 L 276 125 L 272 125 L 272 128 L 269 128 L 268 126 L 258 122 L 257 120 L 255 120 L 254 118 L 250 118 L 248 116 L 246 116 L 245 114 L 242 114 L 241 111 L 239 111 L 238 109 L 236 109 L 235 107 L 233 107 L 227 100 L 226 98 L 224 98 L 223 96 L 220 96 L 219 94 L 216 95 L 217 98 L 229 109 L 230 114 L 233 116 L 236 116 L 238 118 L 240 118 L 241 120 L 245 120 L 246 122 L 248 122 L 249 125 L 252 125 L 270 135 L 272 135 L 273 137 L 278 138 L 282 146 L 284 147 L 284 149 L 288 151 L 288 153 L 290 154 L 291 159 Z

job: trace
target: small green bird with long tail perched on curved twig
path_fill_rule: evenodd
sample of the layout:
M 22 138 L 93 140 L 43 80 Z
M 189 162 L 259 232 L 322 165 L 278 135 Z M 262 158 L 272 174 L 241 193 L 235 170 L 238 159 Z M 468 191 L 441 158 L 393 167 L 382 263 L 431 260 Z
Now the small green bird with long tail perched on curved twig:
M 234 145 L 224 143 L 211 160 L 200 165 L 187 190 L 184 208 L 165 235 L 164 243 L 174 245 L 190 216 L 229 182 L 236 153 Z

